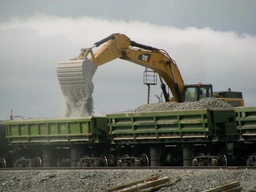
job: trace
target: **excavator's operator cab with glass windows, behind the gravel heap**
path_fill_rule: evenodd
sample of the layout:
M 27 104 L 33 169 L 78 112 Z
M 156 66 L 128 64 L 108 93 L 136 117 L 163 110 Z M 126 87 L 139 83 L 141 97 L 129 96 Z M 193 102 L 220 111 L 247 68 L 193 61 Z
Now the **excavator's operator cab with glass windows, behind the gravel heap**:
M 191 84 L 183 85 L 183 101 L 182 102 L 194 102 L 204 99 L 206 97 L 212 97 L 212 84 Z

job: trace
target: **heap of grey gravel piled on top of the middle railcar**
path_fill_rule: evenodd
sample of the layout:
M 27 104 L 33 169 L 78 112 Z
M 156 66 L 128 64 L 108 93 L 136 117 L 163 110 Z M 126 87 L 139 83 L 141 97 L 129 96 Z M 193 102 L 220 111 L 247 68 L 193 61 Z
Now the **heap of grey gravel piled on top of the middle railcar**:
M 148 111 L 173 111 L 173 110 L 190 110 L 190 109 L 212 109 L 212 108 L 233 108 L 232 105 L 225 103 L 216 97 L 204 98 L 195 102 L 158 102 L 150 103 L 137 107 L 132 112 Z

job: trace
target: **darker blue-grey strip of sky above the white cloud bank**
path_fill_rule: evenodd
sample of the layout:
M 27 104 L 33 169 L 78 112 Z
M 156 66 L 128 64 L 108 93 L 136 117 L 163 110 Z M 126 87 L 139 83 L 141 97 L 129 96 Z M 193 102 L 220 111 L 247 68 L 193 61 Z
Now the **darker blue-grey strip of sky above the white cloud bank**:
M 0 20 L 27 17 L 35 11 L 61 17 L 140 20 L 157 26 L 212 27 L 256 34 L 256 1 L 0 1 Z

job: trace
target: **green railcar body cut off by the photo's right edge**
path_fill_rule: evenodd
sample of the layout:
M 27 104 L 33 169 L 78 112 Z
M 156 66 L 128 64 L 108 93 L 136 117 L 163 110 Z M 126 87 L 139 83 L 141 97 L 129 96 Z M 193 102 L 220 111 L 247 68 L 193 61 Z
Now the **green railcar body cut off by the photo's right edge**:
M 241 140 L 256 140 L 256 106 L 235 107 L 237 129 Z

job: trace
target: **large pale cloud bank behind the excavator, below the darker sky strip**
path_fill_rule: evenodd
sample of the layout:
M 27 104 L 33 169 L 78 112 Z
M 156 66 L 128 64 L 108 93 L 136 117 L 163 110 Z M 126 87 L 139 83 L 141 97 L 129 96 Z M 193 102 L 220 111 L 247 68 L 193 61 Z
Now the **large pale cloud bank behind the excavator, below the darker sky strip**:
M 112 34 L 165 49 L 176 60 L 184 82 L 211 83 L 215 91 L 242 91 L 246 105 L 255 102 L 256 37 L 211 28 L 179 29 L 140 21 L 93 17 L 58 17 L 37 13 L 12 18 L 0 26 L 0 119 L 14 115 L 57 117 L 64 114 L 56 64 L 75 58 L 81 48 Z M 95 50 L 96 51 L 96 50 Z M 98 67 L 93 99 L 96 114 L 133 109 L 147 101 L 144 68 L 116 59 Z M 160 84 L 152 86 L 160 94 Z

